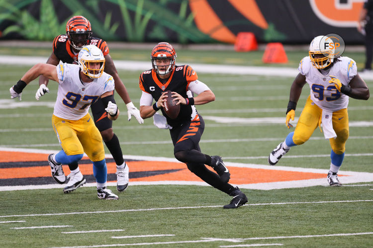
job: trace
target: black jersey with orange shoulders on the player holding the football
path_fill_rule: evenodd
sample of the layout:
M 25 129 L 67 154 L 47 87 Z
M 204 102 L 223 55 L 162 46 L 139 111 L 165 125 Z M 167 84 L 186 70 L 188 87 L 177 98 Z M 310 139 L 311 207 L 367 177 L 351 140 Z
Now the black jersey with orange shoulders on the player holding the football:
M 179 93 L 184 98 L 190 97 L 187 95 L 188 86 L 191 81 L 197 80 L 197 73 L 189 65 L 177 65 L 171 72 L 171 76 L 166 83 L 162 83 L 154 69 L 146 70 L 140 75 L 140 89 L 153 96 L 158 101 L 161 97 L 162 92 L 171 90 Z M 163 108 L 161 108 L 162 114 L 166 117 L 167 123 L 171 126 L 180 126 L 183 123 L 190 122 L 194 106 L 180 105 L 180 113 L 176 119 L 170 119 Z M 196 112 L 195 112 L 196 113 Z M 194 114 L 195 114 L 194 113 Z

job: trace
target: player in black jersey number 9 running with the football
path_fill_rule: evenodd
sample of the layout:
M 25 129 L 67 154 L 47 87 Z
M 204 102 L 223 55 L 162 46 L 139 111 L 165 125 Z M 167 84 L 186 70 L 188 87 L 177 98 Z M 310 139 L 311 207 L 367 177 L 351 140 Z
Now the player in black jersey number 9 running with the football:
M 230 173 L 220 156 L 201 153 L 199 140 L 204 130 L 204 121 L 194 105 L 206 104 L 215 100 L 215 95 L 206 84 L 198 81 L 197 73 L 189 65 L 175 65 L 175 49 L 167 42 L 155 46 L 151 53 L 153 68 L 140 75 L 140 114 L 143 119 L 154 116 L 160 128 L 169 128 L 174 144 L 174 155 L 186 163 L 187 168 L 207 184 L 233 196 L 224 208 L 237 208 L 247 202 L 246 195 L 238 187 L 228 184 Z M 180 113 L 171 119 L 164 112 L 166 91 L 171 90 Z M 197 94 L 193 97 L 192 93 Z M 155 103 L 153 103 L 155 99 Z M 164 117 L 157 111 L 161 110 Z M 167 124 L 166 124 L 167 121 Z M 208 170 L 211 166 L 215 172 Z

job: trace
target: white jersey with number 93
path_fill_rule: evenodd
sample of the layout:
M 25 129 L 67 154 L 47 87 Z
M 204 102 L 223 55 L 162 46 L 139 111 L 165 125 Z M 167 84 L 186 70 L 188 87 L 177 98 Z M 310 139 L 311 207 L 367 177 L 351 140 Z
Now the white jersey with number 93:
M 339 57 L 328 74 L 323 75 L 316 69 L 309 57 L 304 57 L 298 67 L 300 74 L 306 76 L 311 88 L 311 100 L 323 110 L 335 112 L 347 108 L 349 97 L 339 92 L 334 83 L 329 83 L 331 76 L 337 77 L 342 84 L 348 85 L 358 73 L 356 62 L 348 57 Z

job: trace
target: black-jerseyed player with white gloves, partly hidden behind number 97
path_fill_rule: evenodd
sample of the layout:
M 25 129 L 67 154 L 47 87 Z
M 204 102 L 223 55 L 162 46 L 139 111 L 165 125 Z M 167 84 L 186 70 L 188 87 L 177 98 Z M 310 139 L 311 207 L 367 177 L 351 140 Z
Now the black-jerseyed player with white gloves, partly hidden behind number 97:
M 109 48 L 105 41 L 92 37 L 91 23 L 84 16 L 73 16 L 67 22 L 66 35 L 59 35 L 53 40 L 53 52 L 47 60 L 47 63 L 58 65 L 59 62 L 66 63 L 77 63 L 79 51 L 85 45 L 95 45 L 103 53 L 105 58 L 104 71 L 110 74 L 114 78 L 115 90 L 119 96 L 123 99 L 128 109 L 128 121 L 131 116 L 134 116 L 136 120 L 143 124 L 144 120 L 140 117 L 140 112 L 133 105 L 128 95 L 127 89 L 119 78 L 118 72 L 115 65 L 109 55 Z M 36 92 L 36 99 L 39 100 L 44 93 L 49 92 L 46 85 L 48 79 L 44 76 L 39 77 L 39 89 Z M 119 192 L 125 190 L 128 186 L 128 174 L 129 169 L 126 165 L 122 150 L 120 148 L 118 137 L 112 130 L 112 121 L 107 118 L 107 112 L 102 101 L 98 99 L 94 104 L 91 105 L 93 114 L 94 124 L 97 126 L 101 133 L 102 139 L 109 149 L 111 155 L 116 163 L 116 175 L 117 175 L 117 190 Z M 70 182 L 68 183 L 68 190 L 64 192 L 71 192 L 78 188 L 81 182 L 84 180 L 81 174 L 78 163 L 69 164 L 71 174 L 69 175 Z M 58 182 L 57 180 L 55 180 Z

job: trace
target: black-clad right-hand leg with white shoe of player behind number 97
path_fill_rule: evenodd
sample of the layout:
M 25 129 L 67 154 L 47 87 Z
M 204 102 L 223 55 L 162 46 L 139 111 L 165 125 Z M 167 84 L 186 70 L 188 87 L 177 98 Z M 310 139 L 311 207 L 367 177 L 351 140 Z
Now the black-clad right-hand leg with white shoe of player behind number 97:
M 124 191 L 127 188 L 129 182 L 129 168 L 123 159 L 123 153 L 122 149 L 120 148 L 119 139 L 113 132 L 112 121 L 107 118 L 105 106 L 103 106 L 101 99 L 98 99 L 98 101 L 91 106 L 91 110 L 93 114 L 94 124 L 100 131 L 103 142 L 105 142 L 105 145 L 113 156 L 116 164 L 116 189 L 119 192 Z

